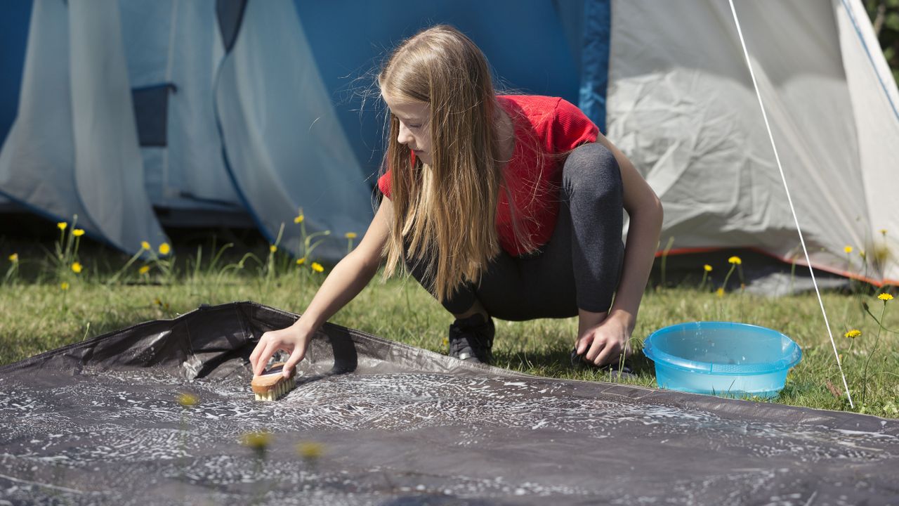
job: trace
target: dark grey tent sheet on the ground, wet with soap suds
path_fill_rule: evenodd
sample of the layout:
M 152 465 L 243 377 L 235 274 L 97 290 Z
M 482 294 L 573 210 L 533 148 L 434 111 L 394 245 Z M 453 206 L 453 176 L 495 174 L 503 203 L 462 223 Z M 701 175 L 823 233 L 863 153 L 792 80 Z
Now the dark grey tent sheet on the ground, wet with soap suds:
M 247 357 L 296 318 L 201 307 L 0 367 L 4 501 L 899 500 L 897 420 L 523 375 L 332 324 L 297 388 L 255 402 Z M 263 459 L 240 444 L 256 430 Z

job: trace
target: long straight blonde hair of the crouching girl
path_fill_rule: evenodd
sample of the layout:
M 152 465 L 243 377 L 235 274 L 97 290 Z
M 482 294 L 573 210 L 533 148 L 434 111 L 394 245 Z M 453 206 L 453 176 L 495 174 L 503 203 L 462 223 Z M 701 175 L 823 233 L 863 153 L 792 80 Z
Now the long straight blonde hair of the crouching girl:
M 442 302 L 459 285 L 477 283 L 500 251 L 495 221 L 503 174 L 490 68 L 462 32 L 437 25 L 394 50 L 378 86 L 398 102 L 428 104 L 432 140 L 432 163 L 413 165 L 410 150 L 397 141 L 399 120 L 390 114 L 384 165 L 392 171 L 394 219 L 384 276 L 405 255 L 426 262 L 426 287 Z

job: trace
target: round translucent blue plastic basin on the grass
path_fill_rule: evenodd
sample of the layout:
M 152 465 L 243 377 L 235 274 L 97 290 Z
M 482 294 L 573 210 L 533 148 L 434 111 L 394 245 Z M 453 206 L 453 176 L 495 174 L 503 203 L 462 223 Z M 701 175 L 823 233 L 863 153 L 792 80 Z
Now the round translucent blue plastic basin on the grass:
M 692 321 L 654 331 L 643 351 L 661 388 L 728 397 L 774 397 L 802 359 L 777 330 L 730 321 Z

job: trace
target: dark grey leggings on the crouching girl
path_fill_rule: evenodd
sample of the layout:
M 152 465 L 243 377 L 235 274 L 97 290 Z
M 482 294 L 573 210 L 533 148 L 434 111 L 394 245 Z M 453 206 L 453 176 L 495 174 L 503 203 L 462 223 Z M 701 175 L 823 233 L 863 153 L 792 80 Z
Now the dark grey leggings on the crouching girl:
M 502 320 L 568 318 L 578 309 L 609 311 L 624 259 L 621 173 L 599 143 L 574 149 L 562 169 L 560 205 L 553 235 L 538 251 L 494 257 L 479 285 L 457 288 L 443 307 L 467 312 L 475 301 Z M 423 267 L 406 267 L 423 286 Z

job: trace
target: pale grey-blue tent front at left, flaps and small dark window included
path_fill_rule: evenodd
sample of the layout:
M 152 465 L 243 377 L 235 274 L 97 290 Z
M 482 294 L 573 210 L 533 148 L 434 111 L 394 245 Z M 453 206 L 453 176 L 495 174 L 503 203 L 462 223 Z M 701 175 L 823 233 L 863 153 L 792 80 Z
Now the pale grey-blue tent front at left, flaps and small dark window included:
M 371 194 L 293 3 L 106 6 L 34 3 L 0 192 L 54 221 L 77 215 L 128 252 L 167 240 L 157 206 L 246 209 L 271 242 L 289 224 L 280 246 L 302 256 L 302 207 L 309 233 L 340 238 L 316 254 L 341 258 L 343 234 L 367 228 Z M 72 66 L 59 61 L 69 53 Z

